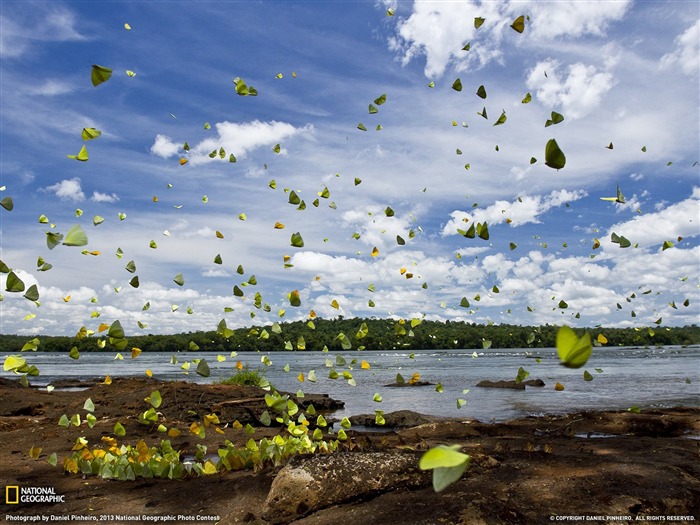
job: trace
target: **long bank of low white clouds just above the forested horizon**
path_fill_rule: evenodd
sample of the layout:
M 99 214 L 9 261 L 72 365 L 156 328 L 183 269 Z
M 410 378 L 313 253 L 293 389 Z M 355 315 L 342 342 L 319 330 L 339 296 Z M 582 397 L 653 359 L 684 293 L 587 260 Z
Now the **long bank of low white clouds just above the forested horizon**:
M 449 318 L 476 323 L 493 319 L 525 325 L 565 322 L 583 326 L 626 326 L 634 310 L 637 314 L 635 323 L 653 322 L 662 312 L 665 312 L 665 323 L 683 325 L 695 322 L 696 310 L 679 308 L 666 312 L 666 306 L 672 300 L 680 305 L 685 298 L 695 303 L 700 248 L 620 252 L 625 252 L 626 256 L 611 258 L 602 253 L 596 259 L 590 259 L 535 250 L 516 260 L 498 253 L 467 262 L 464 258 L 457 261 L 420 251 L 393 252 L 383 258 L 353 258 L 302 251 L 294 254 L 291 261 L 294 267 L 288 270 L 296 273 L 293 284 L 288 287 L 276 285 L 271 291 L 264 289 L 265 282 L 259 279 L 257 288 L 273 306 L 273 312 L 265 314 L 255 310 L 256 323 L 278 320 L 275 312 L 278 307 L 285 306 L 285 320 L 304 318 L 313 308 L 323 317 L 367 316 L 376 312 L 384 317 L 425 314 L 431 319 Z M 406 267 L 414 277 L 406 279 L 400 273 L 401 267 Z M 17 271 L 28 284 L 35 282 L 29 273 Z M 216 278 L 228 278 L 214 268 L 205 272 L 205 276 L 212 283 Z M 8 331 L 22 333 L 26 326 L 31 325 L 46 327 L 53 332 L 74 333 L 86 324 L 85 319 L 90 318 L 92 311 L 100 312 L 105 319 L 120 319 L 130 333 L 138 331 L 136 321 L 148 323 L 158 333 L 213 329 L 221 320 L 225 306 L 235 310 L 225 314 L 229 326 L 250 324 L 250 297 L 232 297 L 230 288 L 226 294 L 205 289 L 208 286 L 193 289 L 188 284 L 179 288 L 172 283 L 163 286 L 143 280 L 138 289 L 123 286 L 123 281 L 113 281 L 95 291 L 85 286 L 65 289 L 55 285 L 42 286 L 45 276 L 41 277 L 38 284 L 42 307 L 32 322 L 20 321 L 27 312 L 27 301 L 20 294 L 6 294 L 3 318 Z M 681 277 L 685 280 L 680 281 Z M 0 275 L 0 287 L 4 287 L 5 278 Z M 375 292 L 368 290 L 370 283 L 374 284 Z M 427 290 L 421 287 L 423 283 L 428 285 Z M 494 284 L 500 293 L 492 291 Z M 122 286 L 119 293 L 115 293 L 115 286 Z M 284 297 L 295 288 L 299 289 L 302 298 L 302 308 L 299 309 L 289 308 Z M 652 293 L 641 293 L 649 289 Z M 637 298 L 627 301 L 633 292 Z M 248 291 L 248 295 L 252 297 L 252 294 Z M 480 301 L 475 300 L 477 294 L 481 296 Z M 61 297 L 66 295 L 72 296 L 70 303 L 62 301 Z M 471 302 L 470 308 L 458 306 L 462 296 Z M 90 301 L 92 297 L 98 299 L 94 304 Z M 340 309 L 330 306 L 334 299 L 340 303 Z M 375 302 L 375 308 L 368 307 L 370 299 Z M 562 299 L 569 304 L 568 309 L 557 307 Z M 143 311 L 142 306 L 147 301 L 151 307 Z M 620 303 L 622 309 L 616 308 L 616 303 Z M 172 305 L 178 305 L 180 309 L 173 312 Z M 528 306 L 534 312 L 528 311 Z M 187 307 L 192 307 L 194 314 L 188 315 Z M 577 312 L 581 314 L 580 321 L 573 317 Z M 66 315 L 70 316 L 71 322 L 66 322 Z M 15 324 L 11 324 L 13 322 Z

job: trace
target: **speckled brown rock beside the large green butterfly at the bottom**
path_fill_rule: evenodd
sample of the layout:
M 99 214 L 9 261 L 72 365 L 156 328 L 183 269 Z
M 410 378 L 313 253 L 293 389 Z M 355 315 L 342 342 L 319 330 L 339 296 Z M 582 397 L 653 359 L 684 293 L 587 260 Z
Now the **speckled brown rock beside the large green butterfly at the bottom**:
M 418 468 L 420 455 L 386 451 L 296 456 L 272 482 L 262 518 L 274 524 L 290 523 L 350 500 L 427 486 L 431 473 Z

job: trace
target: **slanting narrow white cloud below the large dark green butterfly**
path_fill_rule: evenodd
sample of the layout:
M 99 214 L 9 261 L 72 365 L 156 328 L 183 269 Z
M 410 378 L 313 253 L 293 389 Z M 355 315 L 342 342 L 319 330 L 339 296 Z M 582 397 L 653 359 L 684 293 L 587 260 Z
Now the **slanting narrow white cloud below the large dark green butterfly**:
M 457 229 L 466 229 L 464 225 L 468 224 L 469 221 L 486 221 L 491 225 L 506 222 L 512 227 L 540 223 L 540 215 L 547 213 L 552 208 L 577 201 L 587 195 L 588 192 L 584 190 L 555 190 L 544 196 L 523 195 L 512 202 L 498 200 L 487 208 L 470 212 L 455 210 L 450 213 L 452 220 L 445 224 L 442 235 L 456 235 Z

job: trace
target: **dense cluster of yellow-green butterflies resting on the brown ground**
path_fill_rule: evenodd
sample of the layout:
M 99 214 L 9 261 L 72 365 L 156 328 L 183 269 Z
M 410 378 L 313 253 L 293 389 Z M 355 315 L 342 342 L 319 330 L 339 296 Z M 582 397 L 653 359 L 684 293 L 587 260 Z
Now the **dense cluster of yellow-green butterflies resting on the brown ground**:
M 177 437 L 181 434 L 180 429 L 168 428 L 159 422 L 159 414 L 155 409 L 160 406 L 162 398 L 157 390 L 152 392 L 145 401 L 149 409 L 139 416 L 141 424 L 150 425 L 158 432 L 167 433 L 169 437 Z M 117 423 L 114 428 L 116 437 L 104 436 L 99 446 L 90 448 L 87 439 L 78 437 L 71 449 L 73 453 L 63 461 L 63 470 L 73 474 L 93 475 L 119 481 L 133 481 L 136 478 L 182 479 L 229 470 L 260 470 L 269 465 L 281 465 L 297 454 L 331 453 L 347 439 L 345 430 L 342 428 L 332 436 L 334 439 L 326 439 L 331 437 L 332 431 L 326 430 L 324 434 L 322 429 L 327 427 L 327 423 L 321 415 L 315 418 L 315 428 L 313 431 L 310 430 L 310 422 L 306 416 L 316 415 L 313 405 L 302 410 L 288 395 L 281 395 L 275 391 L 265 395 L 265 403 L 268 409 L 260 416 L 260 422 L 269 426 L 274 418 L 277 424 L 285 427 L 285 433 L 271 439 L 262 438 L 258 442 L 251 437 L 244 447 L 238 447 L 227 439 L 216 451 L 216 459 L 208 457 L 207 447 L 203 444 L 197 444 L 194 460 L 188 461 L 181 457 L 180 451 L 175 450 L 167 439 L 161 439 L 158 446 L 149 447 L 143 440 L 138 440 L 135 445 L 120 445 L 117 437 L 123 438 L 126 432 L 121 423 Z M 92 401 L 89 404 L 86 401 L 84 409 L 88 411 L 88 416 L 91 416 L 95 409 Z M 92 426 L 95 418 L 87 418 L 85 421 Z M 83 422 L 80 414 L 75 414 L 70 419 L 64 415 L 58 425 L 66 428 L 71 424 L 80 427 Z M 223 432 L 220 424 L 216 414 L 207 414 L 203 417 L 201 424 L 192 423 L 189 432 L 204 438 L 207 429 L 212 427 L 217 432 Z M 255 429 L 251 425 L 243 427 L 234 423 L 233 428 L 246 434 L 255 434 Z M 32 448 L 30 456 L 33 455 L 36 459 L 40 453 L 40 448 Z M 53 466 L 58 462 L 55 454 L 52 454 L 48 461 Z

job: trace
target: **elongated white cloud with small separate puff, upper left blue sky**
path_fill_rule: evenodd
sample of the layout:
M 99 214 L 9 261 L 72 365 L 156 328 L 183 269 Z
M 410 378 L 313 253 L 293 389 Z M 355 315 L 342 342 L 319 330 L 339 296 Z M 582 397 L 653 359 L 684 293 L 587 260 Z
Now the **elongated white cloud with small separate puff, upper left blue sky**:
M 272 147 L 281 141 L 299 134 L 313 133 L 313 126 L 295 127 L 287 122 L 219 122 L 215 125 L 217 135 L 207 138 L 194 146 L 190 146 L 187 156 L 192 165 L 210 162 L 209 154 L 224 148 L 227 154 L 233 153 L 237 158 L 243 158 L 247 153 L 264 146 Z M 182 143 L 175 143 L 170 137 L 157 135 L 151 146 L 151 153 L 167 158 L 177 155 L 182 149 Z M 286 151 L 280 151 L 280 154 Z

